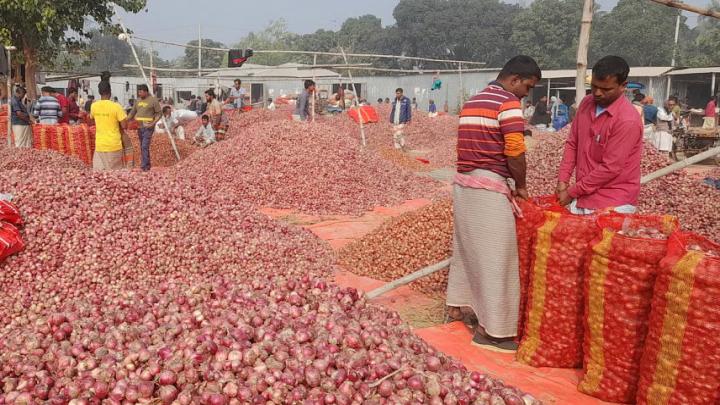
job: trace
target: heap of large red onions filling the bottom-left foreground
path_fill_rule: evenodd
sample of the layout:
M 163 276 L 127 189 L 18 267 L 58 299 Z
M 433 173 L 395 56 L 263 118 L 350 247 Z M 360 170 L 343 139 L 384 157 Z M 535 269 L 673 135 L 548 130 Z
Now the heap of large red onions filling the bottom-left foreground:
M 321 279 L 167 282 L 29 313 L 0 339 L 0 403 L 539 404 Z

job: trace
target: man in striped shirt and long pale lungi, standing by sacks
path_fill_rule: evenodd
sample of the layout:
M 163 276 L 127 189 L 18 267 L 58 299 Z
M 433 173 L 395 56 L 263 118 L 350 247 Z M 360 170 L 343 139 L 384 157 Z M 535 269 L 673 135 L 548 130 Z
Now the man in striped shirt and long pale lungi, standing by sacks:
M 473 343 L 499 351 L 517 349 L 520 281 L 512 199 L 528 198 L 520 99 L 541 76 L 532 58 L 516 56 L 460 113 L 447 305 L 456 319 L 462 308 L 472 309 L 478 320 Z

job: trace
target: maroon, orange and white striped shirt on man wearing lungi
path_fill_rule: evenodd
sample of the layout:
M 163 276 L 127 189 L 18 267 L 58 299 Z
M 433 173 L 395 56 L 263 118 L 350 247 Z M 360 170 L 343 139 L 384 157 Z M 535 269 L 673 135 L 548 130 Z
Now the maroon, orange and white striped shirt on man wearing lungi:
M 511 177 L 507 157 L 525 152 L 524 129 L 520 100 L 498 82 L 490 83 L 460 112 L 458 172 L 484 169 Z

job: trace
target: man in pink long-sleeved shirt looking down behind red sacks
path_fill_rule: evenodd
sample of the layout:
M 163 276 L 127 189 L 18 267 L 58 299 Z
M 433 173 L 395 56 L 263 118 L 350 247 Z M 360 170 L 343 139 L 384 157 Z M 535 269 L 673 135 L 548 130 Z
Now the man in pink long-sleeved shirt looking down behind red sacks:
M 575 214 L 636 211 L 644 144 L 642 121 L 624 97 L 629 73 L 617 56 L 593 66 L 592 92 L 580 104 L 565 143 L 556 189 L 560 203 Z

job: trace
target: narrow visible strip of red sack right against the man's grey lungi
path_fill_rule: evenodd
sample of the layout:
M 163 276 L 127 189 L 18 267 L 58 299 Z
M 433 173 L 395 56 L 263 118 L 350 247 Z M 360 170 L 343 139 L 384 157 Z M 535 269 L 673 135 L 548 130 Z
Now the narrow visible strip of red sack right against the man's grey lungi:
M 538 225 L 543 221 L 544 214 L 540 207 L 532 202 L 517 200 L 522 216 L 515 219 L 515 232 L 518 241 L 518 264 L 520 276 L 520 309 L 518 311 L 517 340 L 520 341 L 525 332 L 528 287 L 530 284 L 530 265 L 532 264 L 532 246 Z

